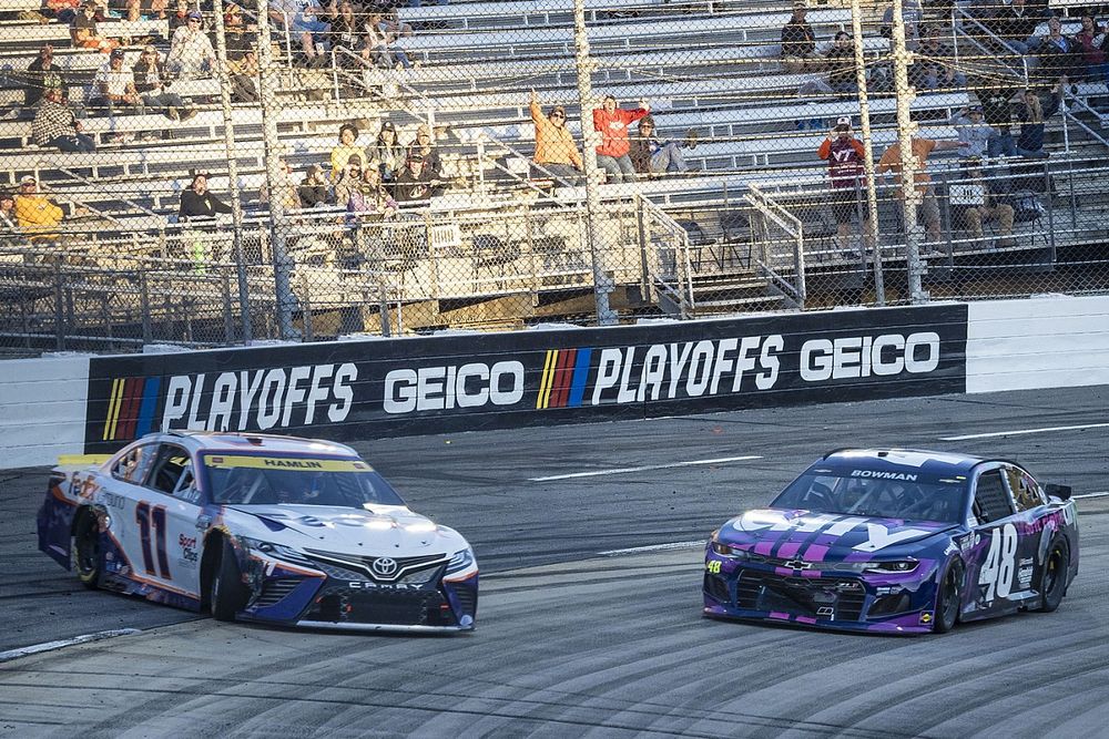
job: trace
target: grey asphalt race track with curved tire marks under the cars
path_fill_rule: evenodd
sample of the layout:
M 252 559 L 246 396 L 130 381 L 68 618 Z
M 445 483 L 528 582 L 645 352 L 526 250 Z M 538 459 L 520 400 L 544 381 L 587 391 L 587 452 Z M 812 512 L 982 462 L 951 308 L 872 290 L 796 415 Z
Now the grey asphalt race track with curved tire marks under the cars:
M 822 452 L 999 454 L 1109 490 L 1109 389 L 892 400 L 359 444 L 482 567 L 478 630 L 217 624 L 85 592 L 35 551 L 43 470 L 0 473 L 0 736 L 1109 736 L 1109 496 L 1080 499 L 1055 614 L 877 637 L 701 617 L 691 546 Z M 1055 429 L 943 441 L 942 437 Z M 723 458 L 757 456 L 745 461 Z M 673 466 L 679 465 L 680 466 Z M 668 466 L 662 466 L 668 465 Z M 629 468 L 653 466 L 627 471 Z M 615 469 L 624 472 L 614 473 Z M 531 479 L 582 472 L 578 476 Z

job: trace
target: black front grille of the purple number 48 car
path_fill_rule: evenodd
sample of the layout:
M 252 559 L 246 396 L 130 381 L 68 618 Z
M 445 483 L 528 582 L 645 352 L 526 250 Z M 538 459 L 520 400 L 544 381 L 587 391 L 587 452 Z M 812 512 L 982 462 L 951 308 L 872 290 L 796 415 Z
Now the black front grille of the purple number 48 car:
M 862 582 L 841 577 L 792 577 L 743 569 L 735 584 L 736 606 L 749 610 L 858 620 L 866 591 Z

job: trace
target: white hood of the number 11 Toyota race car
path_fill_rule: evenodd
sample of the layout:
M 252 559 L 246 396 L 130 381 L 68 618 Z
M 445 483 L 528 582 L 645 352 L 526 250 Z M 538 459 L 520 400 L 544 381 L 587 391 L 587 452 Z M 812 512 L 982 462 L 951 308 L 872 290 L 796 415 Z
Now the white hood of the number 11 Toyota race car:
M 373 510 L 328 505 L 236 505 L 225 510 L 236 534 L 296 548 L 345 554 L 454 554 L 466 540 L 403 505 Z M 234 521 L 232 521 L 234 520 Z

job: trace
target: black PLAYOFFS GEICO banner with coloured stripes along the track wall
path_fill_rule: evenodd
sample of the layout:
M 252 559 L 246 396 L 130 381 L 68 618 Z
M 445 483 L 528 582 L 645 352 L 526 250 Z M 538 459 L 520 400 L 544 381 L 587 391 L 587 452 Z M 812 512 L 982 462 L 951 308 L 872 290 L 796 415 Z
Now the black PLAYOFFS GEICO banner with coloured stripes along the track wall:
M 966 389 L 967 307 L 91 360 L 85 451 L 151 431 L 339 441 Z

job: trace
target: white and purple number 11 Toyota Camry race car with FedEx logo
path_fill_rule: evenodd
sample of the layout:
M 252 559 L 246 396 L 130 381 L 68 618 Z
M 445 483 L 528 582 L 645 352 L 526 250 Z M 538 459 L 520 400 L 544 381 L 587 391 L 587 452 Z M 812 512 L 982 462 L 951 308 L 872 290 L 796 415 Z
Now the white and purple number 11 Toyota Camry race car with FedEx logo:
M 39 548 L 90 588 L 287 626 L 474 628 L 462 536 L 342 444 L 166 432 L 55 468 Z

